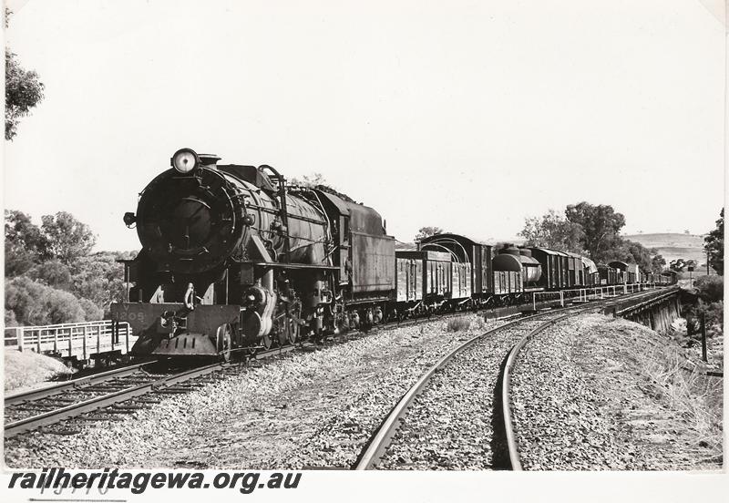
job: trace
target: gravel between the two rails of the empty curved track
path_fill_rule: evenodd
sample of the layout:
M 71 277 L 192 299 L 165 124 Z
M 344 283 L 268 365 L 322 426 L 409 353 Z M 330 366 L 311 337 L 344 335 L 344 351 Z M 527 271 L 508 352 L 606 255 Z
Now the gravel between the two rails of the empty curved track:
M 426 384 L 408 408 L 385 456 L 385 469 L 479 470 L 503 468 L 499 369 L 510 349 L 544 323 L 519 323 L 480 339 L 458 353 Z M 496 402 L 495 402 L 496 400 Z M 494 417 L 495 403 L 499 418 Z

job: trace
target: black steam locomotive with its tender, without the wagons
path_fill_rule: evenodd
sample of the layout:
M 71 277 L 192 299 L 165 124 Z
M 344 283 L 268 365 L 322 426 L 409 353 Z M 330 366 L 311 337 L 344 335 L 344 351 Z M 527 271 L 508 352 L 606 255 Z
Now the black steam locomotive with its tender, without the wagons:
M 227 359 L 381 319 L 393 280 L 375 262 L 394 239 L 375 210 L 219 160 L 180 149 L 124 216 L 142 249 L 111 312 L 139 335 L 133 353 Z

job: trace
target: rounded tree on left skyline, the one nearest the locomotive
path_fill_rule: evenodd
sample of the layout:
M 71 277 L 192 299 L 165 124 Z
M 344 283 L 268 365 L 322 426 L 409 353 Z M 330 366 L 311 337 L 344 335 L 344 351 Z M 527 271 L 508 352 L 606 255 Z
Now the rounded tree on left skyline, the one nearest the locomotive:
M 46 238 L 46 257 L 67 265 L 86 256 L 97 239 L 87 224 L 77 221 L 67 211 L 41 217 L 41 231 Z

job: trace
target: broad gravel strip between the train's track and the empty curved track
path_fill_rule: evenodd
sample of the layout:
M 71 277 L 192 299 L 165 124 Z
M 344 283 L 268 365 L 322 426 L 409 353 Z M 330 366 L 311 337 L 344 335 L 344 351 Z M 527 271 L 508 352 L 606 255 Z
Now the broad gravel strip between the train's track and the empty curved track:
M 342 467 L 354 464 L 390 408 L 449 348 L 503 322 L 467 315 L 241 367 L 121 420 L 75 421 L 78 435 L 5 442 L 9 467 Z M 121 415 L 119 415 L 121 416 Z M 118 416 L 116 417 L 118 419 Z M 61 426 L 66 430 L 73 429 Z

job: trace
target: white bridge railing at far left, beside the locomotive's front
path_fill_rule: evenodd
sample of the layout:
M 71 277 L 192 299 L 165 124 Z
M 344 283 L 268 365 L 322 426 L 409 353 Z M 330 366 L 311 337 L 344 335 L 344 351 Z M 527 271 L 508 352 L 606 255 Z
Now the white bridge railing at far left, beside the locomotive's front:
M 136 341 L 129 323 L 112 320 L 5 327 L 5 351 L 34 351 L 79 360 L 108 352 L 126 354 Z

